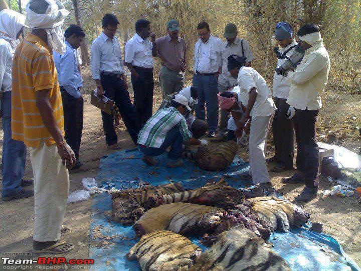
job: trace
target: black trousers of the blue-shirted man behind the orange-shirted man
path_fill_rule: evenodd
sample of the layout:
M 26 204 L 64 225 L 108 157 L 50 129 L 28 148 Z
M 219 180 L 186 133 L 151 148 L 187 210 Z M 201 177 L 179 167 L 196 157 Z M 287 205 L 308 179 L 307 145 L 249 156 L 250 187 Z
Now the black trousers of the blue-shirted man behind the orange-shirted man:
M 79 149 L 83 133 L 84 100 L 78 100 L 60 87 L 64 110 L 65 140 L 79 160 Z

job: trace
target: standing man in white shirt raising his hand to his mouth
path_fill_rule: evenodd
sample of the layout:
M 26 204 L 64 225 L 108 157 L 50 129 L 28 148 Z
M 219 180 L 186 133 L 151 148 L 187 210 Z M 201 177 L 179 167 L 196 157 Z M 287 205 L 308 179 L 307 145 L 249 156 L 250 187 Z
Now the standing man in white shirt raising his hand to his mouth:
M 134 107 L 141 125 L 151 117 L 153 110 L 153 57 L 157 56 L 155 35 L 150 22 L 140 19 L 135 23 L 136 34 L 125 44 L 125 65 L 131 72 Z M 151 37 L 151 42 L 148 40 Z

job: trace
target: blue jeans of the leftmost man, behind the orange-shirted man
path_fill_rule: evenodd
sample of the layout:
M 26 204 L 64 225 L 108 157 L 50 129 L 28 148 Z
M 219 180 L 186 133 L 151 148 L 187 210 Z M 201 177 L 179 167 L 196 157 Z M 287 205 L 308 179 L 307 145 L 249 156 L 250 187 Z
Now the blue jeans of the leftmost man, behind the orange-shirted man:
M 24 142 L 12 139 L 11 130 L 11 91 L 3 95 L 3 197 L 9 197 L 23 190 L 21 181 L 25 172 L 27 148 Z

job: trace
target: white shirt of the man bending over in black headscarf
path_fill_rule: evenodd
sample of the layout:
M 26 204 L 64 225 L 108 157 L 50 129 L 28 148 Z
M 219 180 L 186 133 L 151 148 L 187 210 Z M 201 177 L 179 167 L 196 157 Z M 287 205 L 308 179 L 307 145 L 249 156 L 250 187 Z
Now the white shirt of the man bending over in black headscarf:
M 249 93 L 254 87 L 257 89 L 257 98 L 250 116 L 269 116 L 277 109 L 266 80 L 255 69 L 245 66 L 241 67 L 238 73 L 238 84 L 240 91 L 244 93 Z

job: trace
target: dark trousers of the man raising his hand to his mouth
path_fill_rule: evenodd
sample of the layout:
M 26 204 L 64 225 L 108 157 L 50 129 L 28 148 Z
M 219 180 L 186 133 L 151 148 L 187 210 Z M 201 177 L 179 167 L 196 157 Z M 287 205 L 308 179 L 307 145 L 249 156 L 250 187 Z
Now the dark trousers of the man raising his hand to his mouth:
M 138 78 L 131 75 L 134 91 L 134 108 L 139 123 L 143 126 L 153 114 L 153 71 L 138 67 L 134 67 L 134 69 L 139 74 Z

